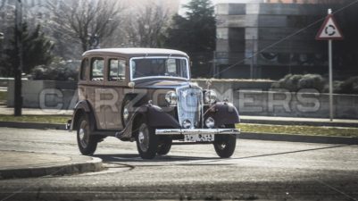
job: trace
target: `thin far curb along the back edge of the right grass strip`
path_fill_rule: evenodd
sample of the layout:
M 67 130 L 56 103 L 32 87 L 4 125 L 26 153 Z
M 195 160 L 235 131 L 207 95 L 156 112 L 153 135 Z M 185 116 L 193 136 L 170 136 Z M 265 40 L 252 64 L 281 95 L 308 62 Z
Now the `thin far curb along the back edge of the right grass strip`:
M 329 127 L 355 127 L 358 123 L 354 122 L 331 122 L 331 121 L 279 121 L 279 120 L 253 120 L 241 118 L 242 123 L 256 124 L 275 124 L 275 125 L 300 125 L 300 126 L 329 126 Z

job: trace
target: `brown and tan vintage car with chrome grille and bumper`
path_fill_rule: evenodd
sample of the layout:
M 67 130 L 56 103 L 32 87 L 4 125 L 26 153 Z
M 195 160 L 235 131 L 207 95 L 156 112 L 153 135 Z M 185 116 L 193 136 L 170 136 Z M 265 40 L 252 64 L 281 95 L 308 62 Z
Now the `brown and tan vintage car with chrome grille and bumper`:
M 237 109 L 212 89 L 190 82 L 187 54 L 170 49 L 108 48 L 83 54 L 79 102 L 69 130 L 79 151 L 93 155 L 112 136 L 136 141 L 144 159 L 166 155 L 172 144 L 213 144 L 230 157 L 236 147 Z

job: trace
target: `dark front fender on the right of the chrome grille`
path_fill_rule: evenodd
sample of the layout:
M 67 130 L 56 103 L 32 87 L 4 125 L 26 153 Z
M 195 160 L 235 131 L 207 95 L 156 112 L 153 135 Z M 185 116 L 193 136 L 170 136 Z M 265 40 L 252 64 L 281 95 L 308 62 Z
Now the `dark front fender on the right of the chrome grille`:
M 216 127 L 240 122 L 237 108 L 234 105 L 225 102 L 219 102 L 206 108 L 204 111 L 204 119 L 209 116 L 214 119 Z

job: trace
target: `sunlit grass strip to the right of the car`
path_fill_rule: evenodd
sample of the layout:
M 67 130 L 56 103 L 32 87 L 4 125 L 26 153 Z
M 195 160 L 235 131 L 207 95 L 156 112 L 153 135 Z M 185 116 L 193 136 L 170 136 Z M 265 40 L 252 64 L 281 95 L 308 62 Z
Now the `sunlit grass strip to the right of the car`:
M 358 128 L 324 126 L 283 126 L 271 124 L 239 123 L 242 132 L 293 134 L 306 136 L 358 137 Z

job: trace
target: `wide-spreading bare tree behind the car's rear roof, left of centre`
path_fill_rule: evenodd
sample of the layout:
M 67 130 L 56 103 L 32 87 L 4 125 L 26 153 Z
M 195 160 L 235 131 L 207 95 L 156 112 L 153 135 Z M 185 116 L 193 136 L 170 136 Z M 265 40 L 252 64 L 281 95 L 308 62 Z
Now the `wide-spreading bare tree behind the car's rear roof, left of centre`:
M 47 0 L 52 26 L 67 38 L 79 41 L 86 51 L 98 40 L 112 36 L 121 24 L 121 6 L 116 0 Z

